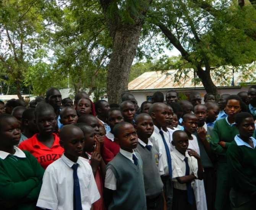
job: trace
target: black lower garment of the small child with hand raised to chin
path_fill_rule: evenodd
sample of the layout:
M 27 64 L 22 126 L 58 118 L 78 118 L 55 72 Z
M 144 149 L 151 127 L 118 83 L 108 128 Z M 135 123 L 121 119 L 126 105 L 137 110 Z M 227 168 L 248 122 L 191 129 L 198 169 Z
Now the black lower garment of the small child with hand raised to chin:
M 196 210 L 196 201 L 193 200 L 193 205 L 188 202 L 188 193 L 186 190 L 173 188 L 173 210 Z

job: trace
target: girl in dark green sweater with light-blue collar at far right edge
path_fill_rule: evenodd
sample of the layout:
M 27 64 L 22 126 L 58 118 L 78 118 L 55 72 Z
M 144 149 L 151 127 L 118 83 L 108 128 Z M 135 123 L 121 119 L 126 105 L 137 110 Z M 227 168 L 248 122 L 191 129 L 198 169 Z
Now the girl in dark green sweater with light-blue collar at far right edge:
M 256 199 L 256 139 L 253 116 L 241 112 L 236 117 L 239 135 L 227 149 L 232 210 L 255 209 Z

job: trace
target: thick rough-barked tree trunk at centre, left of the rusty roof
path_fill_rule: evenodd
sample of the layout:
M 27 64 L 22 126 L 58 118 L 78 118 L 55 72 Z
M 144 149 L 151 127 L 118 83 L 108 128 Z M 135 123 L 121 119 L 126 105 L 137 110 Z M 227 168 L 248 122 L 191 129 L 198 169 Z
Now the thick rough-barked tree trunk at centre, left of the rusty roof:
M 120 103 L 122 92 L 128 89 L 129 74 L 141 36 L 141 26 L 123 26 L 115 32 L 107 74 L 109 103 Z

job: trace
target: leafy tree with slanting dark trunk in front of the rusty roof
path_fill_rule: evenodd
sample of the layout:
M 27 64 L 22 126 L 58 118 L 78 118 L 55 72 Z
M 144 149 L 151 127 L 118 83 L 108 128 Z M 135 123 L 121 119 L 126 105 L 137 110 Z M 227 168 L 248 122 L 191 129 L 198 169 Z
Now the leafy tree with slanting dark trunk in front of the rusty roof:
M 211 10 L 202 8 L 203 3 L 211 5 Z M 180 51 L 207 92 L 217 94 L 211 71 L 255 60 L 256 42 L 248 36 L 248 31 L 255 32 L 253 7 L 244 6 L 240 10 L 225 0 L 158 1 L 153 6 L 148 13 L 152 30 L 157 33 L 160 29 L 164 39 Z M 218 10 L 218 15 L 212 15 L 213 9 Z

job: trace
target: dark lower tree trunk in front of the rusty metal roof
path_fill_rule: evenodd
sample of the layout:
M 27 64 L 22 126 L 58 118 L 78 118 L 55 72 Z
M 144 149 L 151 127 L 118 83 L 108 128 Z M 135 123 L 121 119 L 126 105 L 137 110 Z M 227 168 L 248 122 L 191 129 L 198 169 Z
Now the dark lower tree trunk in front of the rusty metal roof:
M 210 72 L 211 71 L 208 68 L 206 68 L 206 70 L 203 70 L 201 67 L 197 68 L 197 75 L 201 79 L 206 92 L 217 96 L 218 90 L 215 84 L 212 82 Z

